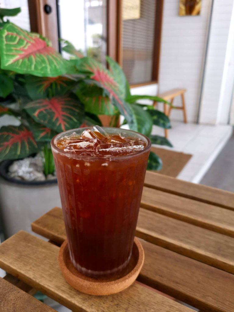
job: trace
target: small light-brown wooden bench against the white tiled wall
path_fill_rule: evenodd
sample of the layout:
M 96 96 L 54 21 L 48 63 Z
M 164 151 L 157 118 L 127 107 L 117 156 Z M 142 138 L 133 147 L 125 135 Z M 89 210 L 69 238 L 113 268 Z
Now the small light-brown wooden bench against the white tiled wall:
M 171 110 L 183 110 L 183 116 L 184 116 L 184 122 L 187 123 L 187 115 L 186 115 L 186 107 L 185 107 L 185 100 L 184 100 L 184 92 L 186 92 L 186 89 L 172 89 L 167 92 L 161 93 L 158 96 L 162 98 L 163 100 L 166 100 L 171 103 L 171 105 L 167 105 L 164 103 L 164 114 L 168 117 L 170 116 Z M 172 106 L 174 98 L 176 96 L 181 96 L 182 106 Z M 157 105 L 157 102 L 154 101 L 154 107 Z M 168 129 L 165 129 L 165 137 L 168 138 Z

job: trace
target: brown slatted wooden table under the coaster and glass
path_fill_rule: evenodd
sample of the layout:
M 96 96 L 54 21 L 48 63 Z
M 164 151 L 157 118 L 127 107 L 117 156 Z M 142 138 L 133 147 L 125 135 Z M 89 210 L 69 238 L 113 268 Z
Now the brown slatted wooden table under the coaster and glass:
M 136 231 L 144 266 L 138 281 L 111 296 L 79 293 L 63 279 L 61 208 L 32 229 L 58 246 L 18 232 L 0 245 L 0 267 L 73 311 L 192 311 L 156 289 L 202 311 L 234 312 L 233 193 L 147 172 Z

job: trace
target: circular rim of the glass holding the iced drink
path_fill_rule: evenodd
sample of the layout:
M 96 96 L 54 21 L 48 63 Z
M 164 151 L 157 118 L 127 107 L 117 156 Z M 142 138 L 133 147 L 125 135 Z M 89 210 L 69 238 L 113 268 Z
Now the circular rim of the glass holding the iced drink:
M 148 150 L 151 148 L 151 141 L 150 141 L 150 139 L 149 139 L 147 136 L 145 136 L 144 134 L 141 134 L 141 133 L 139 133 L 139 132 L 136 132 L 136 131 L 133 131 L 133 130 L 129 130 L 129 129 L 123 129 L 123 128 L 116 128 L 116 127 L 102 127 L 102 128 L 103 128 L 104 130 L 105 130 L 105 129 L 116 129 L 116 130 L 121 130 L 121 129 L 122 129 L 123 132 L 129 133 L 129 134 L 132 133 L 132 134 L 137 135 L 138 137 L 143 137 L 144 140 L 145 140 L 145 142 L 147 143 L 147 146 L 146 146 L 144 149 L 142 149 L 141 151 L 138 151 L 138 152 L 136 152 L 136 153 L 134 153 L 134 154 L 123 155 L 123 156 L 112 156 L 112 155 L 110 155 L 111 160 L 120 160 L 120 159 L 123 160 L 123 159 L 125 159 L 125 158 L 131 158 L 131 157 L 134 157 L 134 156 L 138 156 L 138 155 L 140 155 L 140 154 L 144 154 L 144 153 L 148 152 Z M 80 129 L 82 129 L 82 130 L 85 130 L 85 129 L 92 129 L 92 126 L 91 126 L 91 127 L 85 127 L 85 128 L 70 129 L 70 130 L 66 130 L 66 131 L 64 131 L 64 132 L 61 132 L 61 133 L 56 134 L 56 135 L 51 139 L 51 149 L 52 149 L 52 150 L 55 150 L 57 153 L 62 154 L 62 155 L 64 155 L 64 156 L 68 157 L 68 158 L 79 159 L 79 160 L 83 159 L 83 160 L 85 160 L 85 161 L 87 161 L 87 160 L 89 160 L 89 161 L 95 161 L 95 160 L 104 160 L 104 161 L 106 161 L 106 159 L 107 159 L 106 156 L 97 157 L 97 156 L 86 156 L 86 155 L 72 154 L 72 153 L 69 153 L 69 152 L 64 152 L 63 149 L 60 149 L 60 148 L 58 148 L 58 147 L 56 146 L 55 142 L 56 142 L 56 140 L 57 140 L 60 136 L 62 136 L 62 135 L 65 136 L 66 133 L 70 133 L 70 132 L 72 132 L 72 131 L 75 132 L 75 131 L 80 130 Z

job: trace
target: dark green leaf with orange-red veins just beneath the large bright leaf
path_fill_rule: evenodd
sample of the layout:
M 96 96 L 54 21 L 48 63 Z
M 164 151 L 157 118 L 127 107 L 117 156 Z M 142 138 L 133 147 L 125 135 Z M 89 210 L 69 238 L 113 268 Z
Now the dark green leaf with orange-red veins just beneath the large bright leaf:
M 26 89 L 32 100 L 46 98 L 51 95 L 64 95 L 76 84 L 68 77 L 26 77 Z

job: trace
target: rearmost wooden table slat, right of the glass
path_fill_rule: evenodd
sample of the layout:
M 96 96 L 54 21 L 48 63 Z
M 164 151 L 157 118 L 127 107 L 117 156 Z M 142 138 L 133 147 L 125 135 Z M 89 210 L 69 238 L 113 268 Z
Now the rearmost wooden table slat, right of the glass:
M 146 171 L 145 186 L 234 210 L 234 193 Z

